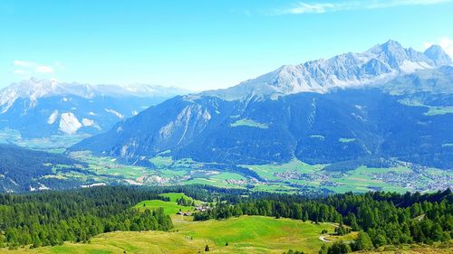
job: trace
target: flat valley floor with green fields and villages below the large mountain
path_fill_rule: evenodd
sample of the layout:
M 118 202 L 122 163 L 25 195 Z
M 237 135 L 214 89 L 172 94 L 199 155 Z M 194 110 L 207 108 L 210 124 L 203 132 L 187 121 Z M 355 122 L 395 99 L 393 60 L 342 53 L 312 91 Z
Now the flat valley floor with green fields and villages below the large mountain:
M 208 184 L 279 193 L 429 192 L 453 184 L 451 171 L 402 163 L 389 168 L 361 165 L 355 169 L 332 171 L 327 165 L 307 165 L 297 159 L 281 165 L 222 165 L 156 156 L 149 159 L 148 165 L 124 165 L 113 157 L 98 157 L 88 152 L 72 152 L 71 157 L 87 167 L 67 171 L 64 165 L 53 165 L 53 174 L 43 177 L 72 179 L 82 186 Z

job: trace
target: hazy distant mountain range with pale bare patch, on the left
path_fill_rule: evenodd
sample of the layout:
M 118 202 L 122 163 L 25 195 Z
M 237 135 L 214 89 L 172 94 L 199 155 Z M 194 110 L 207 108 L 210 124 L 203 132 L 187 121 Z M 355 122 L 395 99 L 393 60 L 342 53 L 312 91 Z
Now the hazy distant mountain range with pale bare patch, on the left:
M 97 134 L 123 118 L 188 91 L 160 86 L 114 86 L 24 80 L 0 90 L 0 129 L 24 137 Z

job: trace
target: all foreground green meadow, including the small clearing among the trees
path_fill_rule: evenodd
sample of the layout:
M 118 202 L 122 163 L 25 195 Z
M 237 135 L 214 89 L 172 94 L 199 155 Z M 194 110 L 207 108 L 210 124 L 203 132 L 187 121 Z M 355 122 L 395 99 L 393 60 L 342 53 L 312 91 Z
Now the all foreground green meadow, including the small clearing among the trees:
M 114 231 L 97 235 L 90 243 L 65 242 L 61 246 L 28 247 L 16 250 L 0 249 L 0 253 L 11 254 L 52 254 L 52 253 L 201 253 L 208 245 L 211 253 L 283 253 L 288 249 L 303 250 L 305 253 L 318 253 L 323 244 L 334 241 L 351 241 L 357 238 L 357 232 L 344 236 L 333 236 L 338 226 L 334 223 L 313 223 L 292 219 L 275 219 L 263 216 L 241 216 L 226 220 L 192 221 L 192 217 L 176 215 L 177 204 L 181 197 L 191 199 L 183 193 L 164 193 L 169 202 L 149 200 L 139 202 L 139 209 L 157 209 L 163 207 L 171 214 L 174 228 L 171 231 Z M 199 202 L 199 201 L 195 201 Z M 184 210 L 183 211 L 186 211 Z M 324 233 L 322 233 L 324 231 Z M 327 231 L 327 233 L 325 233 Z M 372 253 L 416 254 L 416 253 L 452 253 L 451 241 L 426 245 L 401 245 L 380 247 Z M 371 252 L 370 252 L 371 253 Z

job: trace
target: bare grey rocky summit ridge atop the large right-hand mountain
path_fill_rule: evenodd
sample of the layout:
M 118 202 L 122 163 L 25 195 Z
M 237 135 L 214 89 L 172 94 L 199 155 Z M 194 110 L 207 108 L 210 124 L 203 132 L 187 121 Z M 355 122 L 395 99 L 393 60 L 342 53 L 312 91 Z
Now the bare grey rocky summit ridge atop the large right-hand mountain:
M 236 87 L 207 91 L 207 94 L 225 99 L 241 99 L 302 91 L 323 93 L 333 88 L 373 84 L 399 74 L 448 64 L 451 64 L 451 60 L 439 46 L 432 46 L 426 52 L 417 52 L 411 48 L 405 49 L 400 42 L 390 40 L 373 46 L 366 52 L 348 52 L 328 60 L 284 65 Z

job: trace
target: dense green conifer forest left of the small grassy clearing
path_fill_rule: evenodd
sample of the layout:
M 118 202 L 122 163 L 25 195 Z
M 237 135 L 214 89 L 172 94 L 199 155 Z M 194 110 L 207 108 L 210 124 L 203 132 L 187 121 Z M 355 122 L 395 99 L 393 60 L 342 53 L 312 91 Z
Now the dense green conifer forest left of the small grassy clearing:
M 168 200 L 151 191 L 97 187 L 65 192 L 0 194 L 0 247 L 14 249 L 86 242 L 114 230 L 169 230 L 162 209 L 139 212 L 136 203 Z

